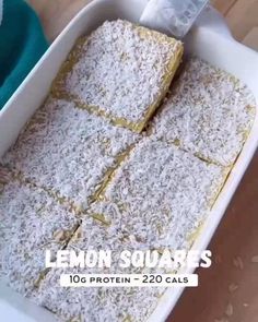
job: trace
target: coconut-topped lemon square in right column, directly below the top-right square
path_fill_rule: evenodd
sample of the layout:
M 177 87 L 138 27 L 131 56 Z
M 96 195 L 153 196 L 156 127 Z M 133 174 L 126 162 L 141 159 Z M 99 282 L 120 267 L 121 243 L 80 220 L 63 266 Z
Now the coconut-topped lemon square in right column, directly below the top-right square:
M 117 205 L 104 215 L 150 248 L 189 248 L 188 237 L 209 214 L 226 175 L 227 169 L 151 136 L 103 191 L 102 198 Z

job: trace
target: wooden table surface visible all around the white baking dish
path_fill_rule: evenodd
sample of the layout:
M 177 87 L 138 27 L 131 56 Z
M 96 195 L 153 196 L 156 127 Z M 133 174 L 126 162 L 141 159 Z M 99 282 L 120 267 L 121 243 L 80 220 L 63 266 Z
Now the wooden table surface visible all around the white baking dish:
M 31 0 L 52 40 L 89 0 Z M 129 0 L 128 0 L 129 1 Z M 258 1 L 214 0 L 233 35 L 258 50 Z M 258 154 L 245 175 L 210 245 L 215 260 L 199 272 L 169 322 L 258 322 Z

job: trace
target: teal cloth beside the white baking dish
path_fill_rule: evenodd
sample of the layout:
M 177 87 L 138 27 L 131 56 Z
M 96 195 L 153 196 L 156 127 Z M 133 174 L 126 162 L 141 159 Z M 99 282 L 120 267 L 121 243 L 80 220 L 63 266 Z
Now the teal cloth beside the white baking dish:
M 23 0 L 3 0 L 0 25 L 0 109 L 47 47 L 33 9 Z

